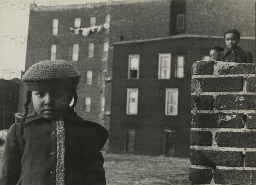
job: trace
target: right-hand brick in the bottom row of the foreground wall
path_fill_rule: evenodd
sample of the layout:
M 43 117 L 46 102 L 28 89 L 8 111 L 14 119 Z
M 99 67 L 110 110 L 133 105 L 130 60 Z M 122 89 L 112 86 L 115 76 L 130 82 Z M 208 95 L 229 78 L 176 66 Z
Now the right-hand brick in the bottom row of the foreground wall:
M 255 170 L 216 170 L 216 184 L 253 185 L 255 184 Z

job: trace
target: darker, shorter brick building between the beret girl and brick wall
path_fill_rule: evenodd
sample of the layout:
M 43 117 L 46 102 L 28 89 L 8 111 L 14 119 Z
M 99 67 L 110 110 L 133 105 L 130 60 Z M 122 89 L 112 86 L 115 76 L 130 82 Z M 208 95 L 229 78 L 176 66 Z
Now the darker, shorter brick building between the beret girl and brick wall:
M 210 48 L 224 46 L 223 38 L 208 39 L 114 44 L 111 152 L 189 157 L 190 69 Z M 254 51 L 255 40 L 242 39 L 240 46 Z

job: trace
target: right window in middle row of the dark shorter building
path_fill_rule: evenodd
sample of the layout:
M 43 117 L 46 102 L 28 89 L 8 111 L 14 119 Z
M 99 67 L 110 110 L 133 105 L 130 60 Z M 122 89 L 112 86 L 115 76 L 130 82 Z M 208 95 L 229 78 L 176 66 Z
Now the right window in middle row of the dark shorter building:
M 178 114 L 178 88 L 166 88 L 165 115 L 177 116 Z

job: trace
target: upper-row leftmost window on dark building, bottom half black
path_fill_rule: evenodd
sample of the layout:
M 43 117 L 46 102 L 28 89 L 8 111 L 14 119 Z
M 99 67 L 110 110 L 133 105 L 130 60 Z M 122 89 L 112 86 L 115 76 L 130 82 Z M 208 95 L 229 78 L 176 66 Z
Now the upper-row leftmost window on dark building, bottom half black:
M 129 55 L 128 79 L 139 79 L 140 55 Z

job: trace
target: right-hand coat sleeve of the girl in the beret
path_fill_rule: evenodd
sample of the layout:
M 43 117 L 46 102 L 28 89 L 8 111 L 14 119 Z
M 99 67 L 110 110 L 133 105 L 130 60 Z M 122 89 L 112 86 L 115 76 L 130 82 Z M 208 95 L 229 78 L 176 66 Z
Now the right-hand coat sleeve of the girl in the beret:
M 101 149 L 104 146 L 108 134 L 96 131 L 95 127 L 90 128 L 90 132 L 83 149 L 83 166 L 82 166 L 82 181 L 83 184 L 90 185 L 105 185 L 105 170 L 103 168 L 104 158 L 101 154 Z

